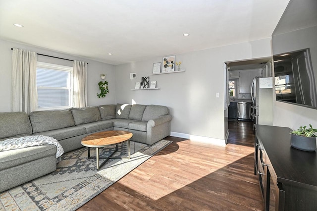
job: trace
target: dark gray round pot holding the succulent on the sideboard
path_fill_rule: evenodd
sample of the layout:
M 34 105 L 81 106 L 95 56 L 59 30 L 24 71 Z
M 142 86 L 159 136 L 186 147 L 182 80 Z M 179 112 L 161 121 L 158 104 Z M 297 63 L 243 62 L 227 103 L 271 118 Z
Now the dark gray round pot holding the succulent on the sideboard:
M 305 137 L 291 134 L 291 146 L 303 151 L 314 152 L 316 147 L 316 137 Z

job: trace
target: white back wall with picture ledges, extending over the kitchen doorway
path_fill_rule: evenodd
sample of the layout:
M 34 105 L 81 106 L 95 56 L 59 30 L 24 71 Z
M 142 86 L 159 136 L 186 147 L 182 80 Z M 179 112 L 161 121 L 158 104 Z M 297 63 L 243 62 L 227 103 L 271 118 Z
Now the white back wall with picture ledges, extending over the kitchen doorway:
M 224 62 L 267 56 L 271 56 L 270 38 L 176 55 L 185 69 L 181 73 L 150 75 L 153 63 L 162 62 L 162 57 L 117 65 L 116 103 L 168 106 L 172 132 L 224 140 Z M 137 79 L 129 78 L 133 72 Z M 160 89 L 130 90 L 143 76 L 157 81 Z

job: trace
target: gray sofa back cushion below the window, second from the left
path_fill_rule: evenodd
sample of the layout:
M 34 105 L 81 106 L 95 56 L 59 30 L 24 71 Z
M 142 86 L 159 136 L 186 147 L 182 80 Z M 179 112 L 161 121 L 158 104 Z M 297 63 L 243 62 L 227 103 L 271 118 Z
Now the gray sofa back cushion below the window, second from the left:
M 65 110 L 41 110 L 30 113 L 30 121 L 33 133 L 56 130 L 75 125 L 71 111 Z

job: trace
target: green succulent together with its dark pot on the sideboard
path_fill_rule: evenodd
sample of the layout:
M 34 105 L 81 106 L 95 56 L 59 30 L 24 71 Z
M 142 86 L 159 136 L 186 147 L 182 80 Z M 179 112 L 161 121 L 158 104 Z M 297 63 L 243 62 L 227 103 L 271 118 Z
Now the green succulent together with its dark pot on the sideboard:
M 316 132 L 312 125 L 311 128 L 306 126 L 300 126 L 299 129 L 292 131 L 291 134 L 291 146 L 304 151 L 314 152 L 316 150 Z

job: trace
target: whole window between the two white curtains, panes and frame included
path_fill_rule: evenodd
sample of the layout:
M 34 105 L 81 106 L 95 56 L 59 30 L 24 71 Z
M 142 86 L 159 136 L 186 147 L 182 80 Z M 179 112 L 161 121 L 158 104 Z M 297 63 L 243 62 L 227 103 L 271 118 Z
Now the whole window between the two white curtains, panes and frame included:
M 72 106 L 73 67 L 37 62 L 38 110 Z

